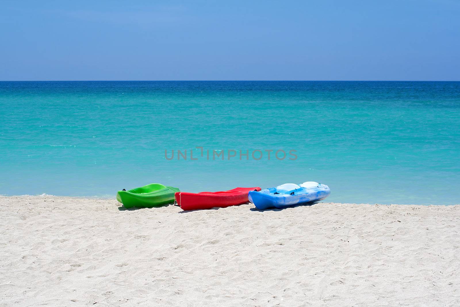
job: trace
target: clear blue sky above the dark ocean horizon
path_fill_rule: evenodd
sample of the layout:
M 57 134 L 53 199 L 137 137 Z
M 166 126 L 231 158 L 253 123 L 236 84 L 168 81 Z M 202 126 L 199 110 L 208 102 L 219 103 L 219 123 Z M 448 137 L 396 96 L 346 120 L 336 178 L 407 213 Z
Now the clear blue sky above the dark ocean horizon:
M 460 1 L 12 1 L 0 80 L 460 80 Z

